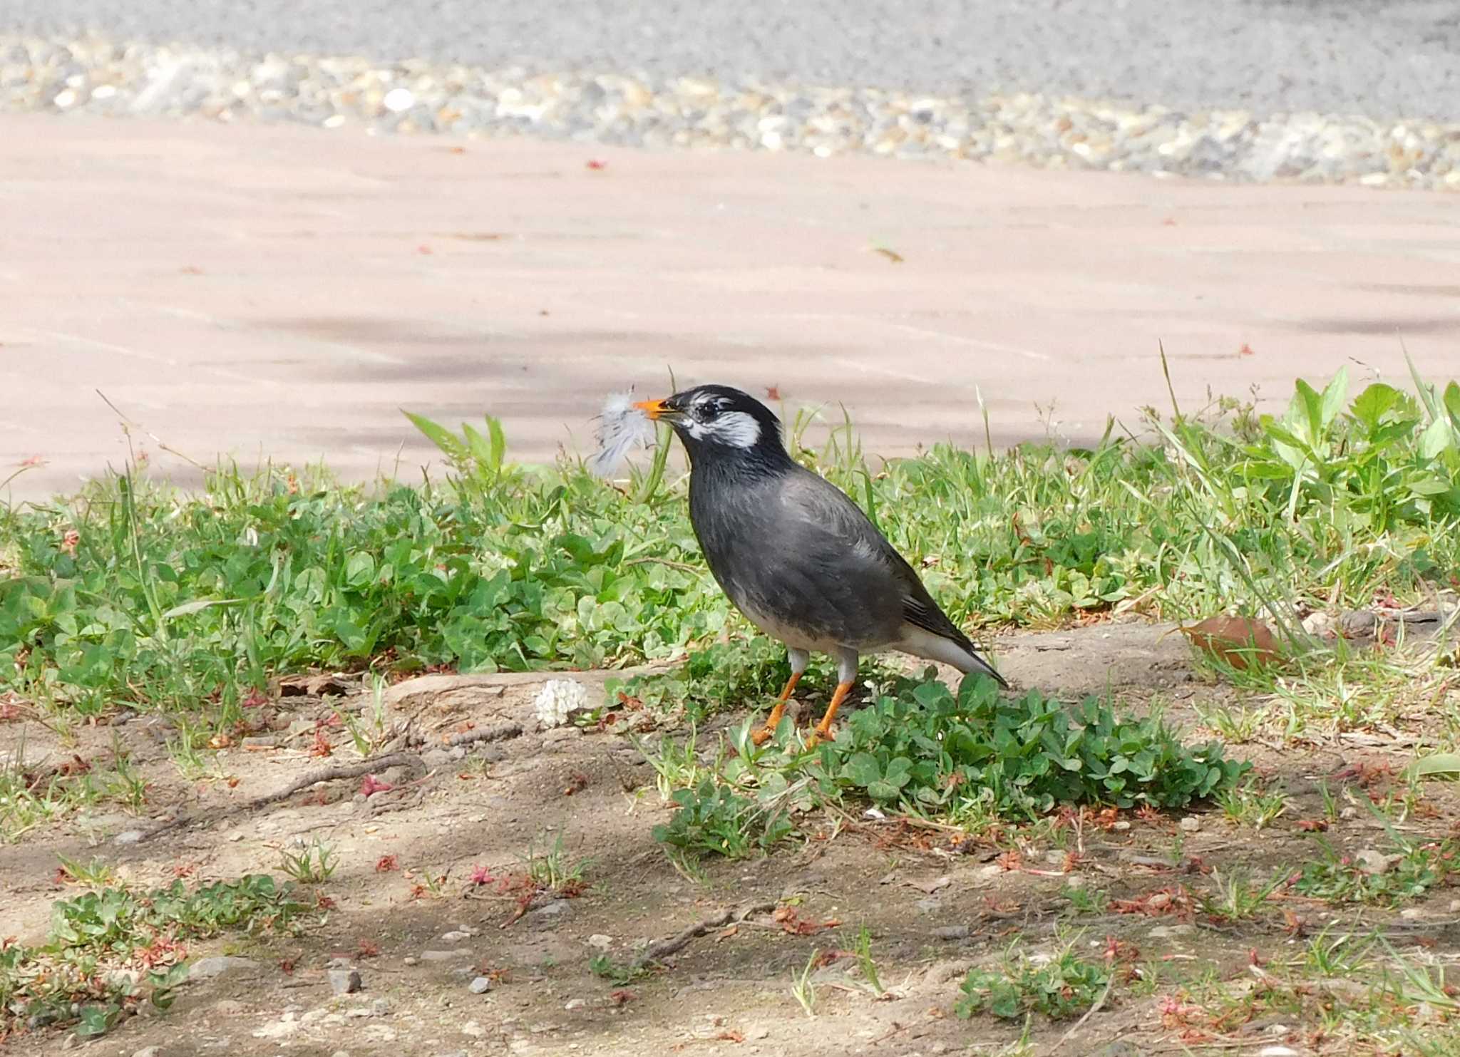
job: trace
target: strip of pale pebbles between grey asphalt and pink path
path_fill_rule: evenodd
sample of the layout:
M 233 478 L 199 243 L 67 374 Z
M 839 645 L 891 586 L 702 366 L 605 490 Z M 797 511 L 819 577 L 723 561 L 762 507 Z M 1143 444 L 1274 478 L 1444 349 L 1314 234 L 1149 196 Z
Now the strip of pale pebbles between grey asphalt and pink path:
M 971 158 L 1238 181 L 1460 190 L 1460 124 L 1186 112 L 755 79 L 529 73 L 407 60 L 0 35 L 0 111 L 201 115 L 650 147 Z

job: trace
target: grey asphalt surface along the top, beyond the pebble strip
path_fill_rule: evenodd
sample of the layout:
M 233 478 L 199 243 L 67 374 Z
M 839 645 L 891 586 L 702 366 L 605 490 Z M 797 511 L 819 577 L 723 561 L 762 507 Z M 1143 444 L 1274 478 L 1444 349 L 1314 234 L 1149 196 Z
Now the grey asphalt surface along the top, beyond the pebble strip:
M 1460 120 L 1456 0 L 4 0 L 0 31 Z

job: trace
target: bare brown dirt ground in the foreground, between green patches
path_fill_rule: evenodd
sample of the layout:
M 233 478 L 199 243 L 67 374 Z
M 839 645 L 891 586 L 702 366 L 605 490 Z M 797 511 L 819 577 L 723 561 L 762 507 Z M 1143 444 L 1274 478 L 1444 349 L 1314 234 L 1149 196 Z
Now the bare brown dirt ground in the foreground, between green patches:
M 997 654 L 1016 686 L 1067 696 L 1110 689 L 1137 711 L 1159 702 L 1193 736 L 1210 736 L 1199 729 L 1194 708 L 1231 701 L 1231 691 L 1196 676 L 1186 641 L 1162 638 L 1162 631 L 1132 622 L 1010 635 L 999 641 Z M 1083 854 L 1070 873 L 1064 853 L 1037 839 L 1015 857 L 991 844 L 958 845 L 936 829 L 851 816 L 840 828 L 831 818 L 812 819 L 806 828 L 818 837 L 806 844 L 783 845 L 764 858 L 710 861 L 705 877 L 692 879 L 672 867 L 650 834 L 667 820 L 669 807 L 654 788 L 653 769 L 626 737 L 577 727 L 537 730 L 531 701 L 548 677 L 553 676 L 426 676 L 399 683 L 387 698 L 390 715 L 399 727 L 410 718 L 412 730 L 425 733 L 418 749 L 423 772 L 409 766 L 387 772 L 396 788 L 368 799 L 361 796 L 361 778 L 352 777 L 257 810 L 239 807 L 311 769 L 356 759 L 339 730 L 331 758 L 311 755 L 312 730 L 336 705 L 366 708 L 366 695 L 356 691 L 342 702 L 298 693 L 258 705 L 260 721 L 276 733 L 226 749 L 219 774 L 197 783 L 184 781 L 172 764 L 162 720 L 86 729 L 74 745 L 63 745 L 39 723 L 0 726 L 0 749 L 10 756 L 23 739 L 31 762 L 48 755 L 102 756 L 117 739 L 152 783 L 142 818 L 93 809 L 0 844 L 0 891 L 7 893 L 0 936 L 44 939 L 51 902 L 79 891 L 54 879 L 58 856 L 104 858 L 145 885 L 178 875 L 279 876 L 283 851 L 301 839 L 327 842 L 337 856 L 333 876 L 318 886 L 333 910 L 302 937 L 229 934 L 190 943 L 190 958 L 244 961 L 185 984 L 171 1012 L 133 1018 L 99 1041 L 36 1031 L 15 1038 L 9 1053 L 70 1047 L 146 1057 L 997 1053 L 1019 1038 L 1022 1025 L 990 1016 L 962 1021 L 953 1016 L 953 1003 L 967 968 L 997 958 L 1015 939 L 1029 952 L 1051 950 L 1076 934 L 1073 924 L 1085 930 L 1077 942 L 1091 956 L 1115 937 L 1139 948 L 1142 961 L 1169 966 L 1172 980 L 1202 969 L 1244 978 L 1251 952 L 1259 961 L 1282 958 L 1299 942 L 1272 923 L 1216 929 L 1142 914 L 1075 917 L 1061 888 L 1073 880 L 1114 899 L 1133 899 L 1178 883 L 1181 870 L 1194 870 L 1196 863 L 1266 876 L 1276 864 L 1311 854 L 1296 822 L 1321 813 L 1318 780 L 1358 762 L 1402 762 L 1381 745 L 1342 739 L 1307 747 L 1242 745 L 1234 753 L 1278 777 L 1289 796 L 1289 810 L 1272 828 L 1238 828 L 1210 806 L 1193 812 L 1194 820 L 1184 813 L 1123 815 L 1114 828 L 1092 825 L 1080 832 Z M 604 674 L 574 677 L 600 685 Z M 740 718 L 729 714 L 715 726 L 723 730 Z M 520 724 L 523 733 L 456 749 L 442 745 L 453 734 L 502 723 Z M 685 734 L 654 729 L 642 715 L 637 723 L 648 740 Z M 699 743 L 708 749 L 717 737 L 701 730 Z M 147 837 L 180 813 L 199 822 Z M 1371 816 L 1359 815 L 1336 823 L 1329 837 L 1361 848 L 1375 842 L 1377 831 Z M 559 837 L 569 860 L 588 860 L 583 891 L 531 898 L 523 912 L 521 892 L 501 891 L 499 879 L 520 876 L 530 851 L 542 853 Z M 1172 870 L 1178 839 L 1183 866 Z M 473 885 L 477 867 L 493 883 Z M 426 883 L 426 876 L 441 875 L 442 883 Z M 1448 902 L 1448 895 L 1431 895 L 1403 918 L 1399 911 L 1321 905 L 1302 912 L 1314 923 L 1339 914 L 1393 921 L 1425 946 L 1453 948 L 1448 918 L 1456 915 Z M 667 955 L 660 971 L 610 981 L 588 968 L 597 955 L 628 962 L 647 942 L 756 904 L 783 910 L 712 927 Z M 816 1003 L 809 1016 L 793 997 L 793 977 L 815 952 L 851 948 L 861 926 L 872 931 L 888 996 L 876 999 L 858 984 L 854 958 L 835 958 L 812 974 Z M 362 990 L 333 993 L 331 958 L 358 969 Z M 477 977 L 491 983 L 482 994 L 470 987 Z M 1035 1018 L 1031 1039 L 1041 1053 L 1203 1053 L 1200 1044 L 1187 1050 L 1162 1025 L 1161 1003 L 1169 993 L 1171 987 L 1156 987 L 1129 999 L 1117 991 L 1072 1039 L 1066 1039 L 1072 1022 Z M 1251 1053 L 1273 1042 L 1307 1053 L 1301 1032 L 1289 1025 L 1250 1022 L 1231 1031 L 1251 1041 Z

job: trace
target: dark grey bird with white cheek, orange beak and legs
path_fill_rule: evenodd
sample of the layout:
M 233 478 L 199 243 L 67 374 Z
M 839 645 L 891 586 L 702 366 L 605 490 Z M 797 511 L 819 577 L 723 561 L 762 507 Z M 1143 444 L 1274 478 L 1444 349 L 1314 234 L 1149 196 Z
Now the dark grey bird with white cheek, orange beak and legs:
M 696 385 L 634 406 L 685 447 L 689 521 L 711 575 L 752 625 L 785 645 L 791 677 L 755 745 L 775 733 L 812 653 L 837 658 L 837 691 L 812 745 L 831 737 L 863 654 L 898 650 L 1009 686 L 861 508 L 791 458 L 764 403 L 729 385 Z

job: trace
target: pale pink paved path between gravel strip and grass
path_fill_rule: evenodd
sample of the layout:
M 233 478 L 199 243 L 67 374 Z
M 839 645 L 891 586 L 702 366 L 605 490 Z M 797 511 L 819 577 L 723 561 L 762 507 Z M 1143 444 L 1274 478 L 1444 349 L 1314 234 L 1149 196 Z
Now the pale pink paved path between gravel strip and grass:
M 588 162 L 596 162 L 590 166 Z M 602 162 L 602 165 L 597 165 Z M 869 450 L 1089 438 L 1340 364 L 1460 375 L 1460 200 L 975 165 L 0 115 L 0 479 L 126 439 L 413 476 L 400 407 L 591 445 L 602 396 L 845 404 Z M 901 261 L 875 251 L 883 247 Z M 1250 355 L 1241 350 L 1250 349 Z M 1359 361 L 1364 366 L 1353 364 Z M 1053 406 L 1041 416 L 1035 404 Z M 188 466 L 137 438 L 152 464 Z

